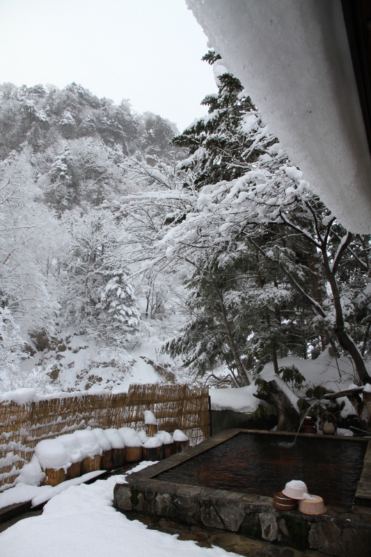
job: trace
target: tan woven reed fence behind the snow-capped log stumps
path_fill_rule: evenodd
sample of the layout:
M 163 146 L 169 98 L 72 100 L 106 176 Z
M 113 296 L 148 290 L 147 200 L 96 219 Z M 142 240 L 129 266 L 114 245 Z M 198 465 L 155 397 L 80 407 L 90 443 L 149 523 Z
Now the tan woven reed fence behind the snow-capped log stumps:
M 208 389 L 187 385 L 131 385 L 127 393 L 79 395 L 25 405 L 0 403 L 0 491 L 14 485 L 41 439 L 90 427 L 143 429 L 144 411 L 159 430 L 184 431 L 191 445 L 210 436 Z

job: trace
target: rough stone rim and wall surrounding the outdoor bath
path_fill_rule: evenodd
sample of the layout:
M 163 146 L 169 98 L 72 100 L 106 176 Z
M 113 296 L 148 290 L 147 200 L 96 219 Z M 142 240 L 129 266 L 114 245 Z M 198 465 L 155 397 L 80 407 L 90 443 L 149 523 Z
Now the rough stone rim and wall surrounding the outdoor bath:
M 301 551 L 314 550 L 337 557 L 371 557 L 371 506 L 353 506 L 352 510 L 328 507 L 324 515 L 308 516 L 299 511 L 276 510 L 271 497 L 156 479 L 160 473 L 240 431 L 222 432 L 186 453 L 133 473 L 127 477 L 127 485 L 116 485 L 114 506 L 122 512 L 141 512 L 183 524 L 217 528 Z M 363 476 L 368 488 L 368 477 Z M 362 505 L 371 503 L 366 495 Z

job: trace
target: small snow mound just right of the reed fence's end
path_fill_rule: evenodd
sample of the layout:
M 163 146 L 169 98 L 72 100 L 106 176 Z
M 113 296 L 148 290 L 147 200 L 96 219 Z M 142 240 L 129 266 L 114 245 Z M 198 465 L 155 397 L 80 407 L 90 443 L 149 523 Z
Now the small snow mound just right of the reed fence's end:
M 235 412 L 253 412 L 258 408 L 260 400 L 255 398 L 255 384 L 241 389 L 210 389 L 212 410 L 233 410 Z

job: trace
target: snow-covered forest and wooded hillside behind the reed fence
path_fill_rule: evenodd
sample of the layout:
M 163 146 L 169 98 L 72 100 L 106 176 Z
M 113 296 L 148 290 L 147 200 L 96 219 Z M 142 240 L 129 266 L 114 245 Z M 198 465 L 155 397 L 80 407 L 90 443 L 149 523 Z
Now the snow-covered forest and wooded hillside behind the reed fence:
M 371 383 L 370 236 L 203 59 L 219 93 L 182 133 L 77 84 L 0 86 L 0 391 L 112 389 L 141 357 L 164 382 L 251 387 L 278 429 L 297 403 L 370 430 L 360 397 L 324 398 Z

